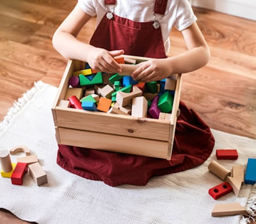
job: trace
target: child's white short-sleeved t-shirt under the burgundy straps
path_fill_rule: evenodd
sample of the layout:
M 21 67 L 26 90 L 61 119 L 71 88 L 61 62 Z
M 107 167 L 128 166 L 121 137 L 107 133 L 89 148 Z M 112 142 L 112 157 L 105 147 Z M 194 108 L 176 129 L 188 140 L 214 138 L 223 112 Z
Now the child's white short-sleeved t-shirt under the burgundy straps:
M 148 22 L 154 20 L 154 6 L 156 0 L 116 0 L 115 15 L 136 22 Z M 78 0 L 78 5 L 88 15 L 97 15 L 96 27 L 106 14 L 104 0 Z M 113 6 L 109 6 L 113 12 Z M 169 35 L 172 27 L 179 31 L 188 28 L 196 21 L 196 16 L 188 0 L 168 0 L 165 14 L 157 14 L 157 20 L 161 19 L 161 31 L 163 35 L 164 49 L 166 54 L 170 49 Z

